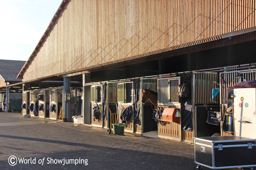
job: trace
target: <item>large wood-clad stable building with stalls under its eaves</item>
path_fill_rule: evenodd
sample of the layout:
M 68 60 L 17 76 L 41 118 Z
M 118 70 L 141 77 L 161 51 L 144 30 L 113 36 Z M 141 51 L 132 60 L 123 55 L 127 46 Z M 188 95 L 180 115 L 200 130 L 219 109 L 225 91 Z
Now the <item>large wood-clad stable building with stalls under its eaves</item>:
M 44 106 L 53 109 L 57 120 L 61 114 L 67 121 L 79 115 L 79 108 L 77 113 L 70 109 L 78 107 L 71 104 L 73 97 L 75 104 L 80 102 L 86 125 L 110 127 L 109 110 L 116 112 L 119 119 L 122 110 L 132 106 L 127 132 L 157 130 L 159 137 L 188 142 L 212 133 L 232 135 L 220 126 L 204 125 L 198 110 L 207 113 L 208 108 L 223 114 L 218 108 L 225 109 L 228 100 L 222 81 L 226 80 L 227 86 L 243 81 L 244 77 L 237 76 L 241 70 L 250 72 L 249 79 L 255 79 L 255 9 L 254 0 L 63 0 L 17 76 L 22 83 L 14 85 L 23 84 L 23 91 L 28 92 L 33 85 L 59 81 L 61 90 L 49 94 L 52 102 L 60 97 L 59 104 L 51 107 L 49 102 L 49 108 Z M 191 91 L 186 97 L 189 106 L 178 97 L 184 82 L 189 82 Z M 71 87 L 82 93 L 73 96 Z M 179 109 L 180 120 L 167 119 L 153 128 L 155 125 L 144 113 L 151 110 L 146 106 L 150 101 L 141 102 L 143 88 L 148 87 L 158 93 L 157 103 L 163 108 L 163 115 L 174 115 L 167 113 L 169 108 L 175 108 L 175 114 Z M 213 88 L 220 88 L 214 98 Z M 29 102 L 28 97 L 24 98 Z M 101 115 L 94 120 L 93 108 L 99 104 Z M 188 107 L 190 110 L 182 110 Z

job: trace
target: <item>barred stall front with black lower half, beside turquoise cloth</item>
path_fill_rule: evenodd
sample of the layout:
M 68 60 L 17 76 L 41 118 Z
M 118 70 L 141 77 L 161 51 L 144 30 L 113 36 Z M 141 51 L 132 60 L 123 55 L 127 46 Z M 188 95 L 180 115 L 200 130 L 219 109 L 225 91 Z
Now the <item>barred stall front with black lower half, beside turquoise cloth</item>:
M 218 73 L 193 73 L 194 137 L 220 136 Z M 214 95 L 212 91 L 216 90 Z

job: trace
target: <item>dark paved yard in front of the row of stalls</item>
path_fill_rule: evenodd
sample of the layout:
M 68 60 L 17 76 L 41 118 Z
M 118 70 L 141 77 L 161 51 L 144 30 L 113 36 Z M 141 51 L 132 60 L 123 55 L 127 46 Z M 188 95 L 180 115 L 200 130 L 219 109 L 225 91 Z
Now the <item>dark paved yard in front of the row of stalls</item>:
M 0 169 L 190 170 L 196 164 L 193 144 L 0 113 Z

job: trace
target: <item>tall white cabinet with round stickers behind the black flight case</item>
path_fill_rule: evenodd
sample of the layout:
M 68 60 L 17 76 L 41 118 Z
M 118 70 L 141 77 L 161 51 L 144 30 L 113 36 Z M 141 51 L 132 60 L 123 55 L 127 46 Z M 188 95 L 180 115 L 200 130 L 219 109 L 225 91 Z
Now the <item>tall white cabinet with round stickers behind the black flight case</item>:
M 256 88 L 234 88 L 235 135 L 256 139 Z

